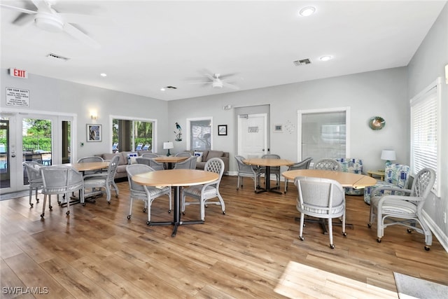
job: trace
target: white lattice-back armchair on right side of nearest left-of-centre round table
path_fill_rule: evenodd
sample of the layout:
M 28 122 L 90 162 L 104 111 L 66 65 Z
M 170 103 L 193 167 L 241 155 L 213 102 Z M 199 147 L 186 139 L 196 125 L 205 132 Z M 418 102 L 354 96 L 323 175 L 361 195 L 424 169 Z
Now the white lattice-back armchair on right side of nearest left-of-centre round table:
M 197 186 L 190 186 L 184 188 L 182 192 L 182 214 L 185 214 L 185 207 L 190 204 L 200 204 L 201 220 L 205 219 L 205 207 L 207 204 L 221 205 L 221 210 L 225 214 L 225 203 L 221 193 L 219 193 L 219 184 L 224 173 L 224 162 L 220 158 L 209 159 L 204 166 L 204 171 L 217 173 L 218 179 L 211 183 L 206 183 Z M 195 201 L 186 201 L 186 197 L 192 197 Z M 217 201 L 211 201 L 211 199 L 218 197 Z

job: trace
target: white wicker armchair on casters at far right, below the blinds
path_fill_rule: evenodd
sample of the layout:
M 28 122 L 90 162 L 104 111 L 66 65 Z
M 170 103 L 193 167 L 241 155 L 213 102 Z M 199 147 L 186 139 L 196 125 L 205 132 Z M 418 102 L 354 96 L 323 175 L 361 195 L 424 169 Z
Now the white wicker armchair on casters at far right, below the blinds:
M 435 183 L 435 172 L 430 168 L 423 168 L 416 174 L 411 189 L 393 186 L 379 186 L 372 189 L 370 197 L 370 221 L 368 227 L 372 227 L 375 218 L 377 221 L 377 242 L 381 242 L 384 236 L 384 228 L 390 225 L 402 225 L 407 232 L 413 230 L 425 236 L 425 250 L 430 250 L 433 244 L 431 232 L 425 217 L 423 205 L 431 188 Z M 395 190 L 405 195 L 381 194 L 381 190 Z M 419 223 L 420 228 L 416 227 Z

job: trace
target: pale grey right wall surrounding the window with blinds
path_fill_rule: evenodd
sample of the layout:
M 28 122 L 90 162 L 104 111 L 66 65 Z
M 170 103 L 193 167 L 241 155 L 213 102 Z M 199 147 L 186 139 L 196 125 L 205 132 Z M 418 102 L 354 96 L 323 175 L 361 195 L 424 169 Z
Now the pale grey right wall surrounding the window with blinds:
M 423 88 L 442 77 L 445 80 L 444 66 L 448 64 L 448 4 L 444 6 L 439 18 L 435 21 L 421 46 L 408 65 L 408 99 L 412 99 Z M 443 221 L 443 213 L 448 216 L 448 85 L 442 84 L 442 168 L 437 178 L 442 190 L 440 197 L 431 194 L 425 203 L 424 211 L 432 221 L 432 230 L 437 239 L 448 251 L 448 224 Z M 408 109 L 408 114 L 409 114 Z

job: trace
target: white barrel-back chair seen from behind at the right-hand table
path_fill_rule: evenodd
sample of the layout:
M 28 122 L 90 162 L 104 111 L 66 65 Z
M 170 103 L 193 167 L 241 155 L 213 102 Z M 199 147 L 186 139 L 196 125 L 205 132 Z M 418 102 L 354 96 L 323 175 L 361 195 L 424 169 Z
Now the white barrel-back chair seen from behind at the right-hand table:
M 294 179 L 297 187 L 297 211 L 300 211 L 299 239 L 304 240 L 304 216 L 328 219 L 328 236 L 330 248 L 334 249 L 332 218 L 342 217 L 342 235 L 345 231 L 345 193 L 341 184 L 332 179 L 321 179 L 309 176 L 297 176 Z

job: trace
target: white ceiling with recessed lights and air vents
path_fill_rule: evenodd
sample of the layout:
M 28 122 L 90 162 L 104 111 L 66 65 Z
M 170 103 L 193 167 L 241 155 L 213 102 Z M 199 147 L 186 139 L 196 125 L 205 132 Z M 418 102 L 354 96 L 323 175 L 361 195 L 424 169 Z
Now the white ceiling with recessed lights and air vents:
M 409 63 L 447 1 L 52 1 L 59 13 L 94 15 L 77 24 L 101 44 L 14 25 L 1 11 L 1 68 L 155 99 L 229 88 L 192 84 L 204 71 L 237 73 L 240 90 L 328 78 Z M 0 1 L 31 10 L 30 1 Z M 315 6 L 307 18 L 298 14 Z M 103 19 L 105 21 L 103 21 Z M 69 57 L 60 62 L 49 53 Z M 332 55 L 321 62 L 319 57 Z M 311 60 L 296 67 L 295 60 Z M 99 76 L 106 73 L 105 78 Z M 175 86 L 162 92 L 160 88 Z

